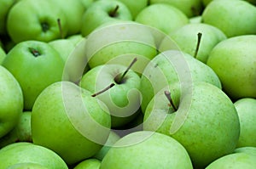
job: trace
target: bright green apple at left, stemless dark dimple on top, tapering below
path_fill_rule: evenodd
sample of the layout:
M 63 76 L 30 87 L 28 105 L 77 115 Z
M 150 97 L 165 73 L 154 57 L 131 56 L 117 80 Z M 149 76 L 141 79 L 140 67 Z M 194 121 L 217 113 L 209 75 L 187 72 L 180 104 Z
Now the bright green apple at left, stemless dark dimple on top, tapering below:
M 26 1 L 26 0 L 25 0 Z M 62 80 L 64 61 L 47 42 L 19 42 L 3 59 L 3 66 L 20 83 L 24 109 L 31 110 L 45 87 Z

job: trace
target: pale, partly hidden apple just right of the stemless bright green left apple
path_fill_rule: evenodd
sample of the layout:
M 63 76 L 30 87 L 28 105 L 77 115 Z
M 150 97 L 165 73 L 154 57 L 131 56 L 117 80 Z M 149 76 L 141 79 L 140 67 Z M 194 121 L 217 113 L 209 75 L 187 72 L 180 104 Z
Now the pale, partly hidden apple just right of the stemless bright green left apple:
M 86 39 L 84 37 L 73 41 L 70 39 L 57 39 L 49 42 L 49 45 L 55 48 L 64 60 L 64 69 L 71 82 L 79 82 L 84 74 L 84 68 L 87 65 L 87 58 L 84 54 L 85 42 Z

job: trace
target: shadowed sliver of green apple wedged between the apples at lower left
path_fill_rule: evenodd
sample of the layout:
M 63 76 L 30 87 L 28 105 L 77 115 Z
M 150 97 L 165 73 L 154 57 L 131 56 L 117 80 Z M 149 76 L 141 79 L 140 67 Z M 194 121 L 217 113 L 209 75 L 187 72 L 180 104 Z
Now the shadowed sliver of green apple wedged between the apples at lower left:
M 0 138 L 0 148 L 17 142 L 32 142 L 31 111 L 23 112 L 15 128 Z

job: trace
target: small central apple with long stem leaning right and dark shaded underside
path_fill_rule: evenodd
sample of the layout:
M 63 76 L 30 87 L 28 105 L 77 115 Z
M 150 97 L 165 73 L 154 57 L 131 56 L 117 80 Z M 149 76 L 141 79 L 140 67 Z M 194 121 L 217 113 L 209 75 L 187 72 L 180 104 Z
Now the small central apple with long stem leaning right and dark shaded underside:
M 124 65 L 98 65 L 86 72 L 80 82 L 80 86 L 91 93 L 114 84 L 108 91 L 96 96 L 108 106 L 111 127 L 120 127 L 132 121 L 140 108 L 140 76 L 133 70 L 126 70 Z

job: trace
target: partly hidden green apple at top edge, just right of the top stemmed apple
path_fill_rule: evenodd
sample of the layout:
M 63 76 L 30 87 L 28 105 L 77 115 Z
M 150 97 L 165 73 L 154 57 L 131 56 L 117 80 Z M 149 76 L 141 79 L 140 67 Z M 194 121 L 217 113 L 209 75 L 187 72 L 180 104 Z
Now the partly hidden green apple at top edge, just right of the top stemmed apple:
M 121 3 L 124 3 L 130 10 L 132 18 L 135 19 L 137 14 L 148 6 L 148 0 L 118 0 Z

